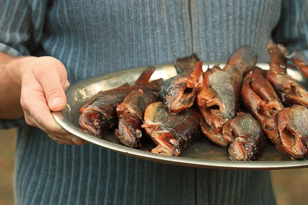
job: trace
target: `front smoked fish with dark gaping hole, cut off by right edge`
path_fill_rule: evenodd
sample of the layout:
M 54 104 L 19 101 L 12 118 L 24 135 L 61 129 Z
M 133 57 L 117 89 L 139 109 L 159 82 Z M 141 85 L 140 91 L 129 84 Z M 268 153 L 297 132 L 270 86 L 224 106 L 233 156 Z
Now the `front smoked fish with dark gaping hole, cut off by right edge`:
M 305 159 L 308 155 L 308 109 L 294 105 L 279 111 L 277 127 L 281 138 L 279 151 L 292 160 Z

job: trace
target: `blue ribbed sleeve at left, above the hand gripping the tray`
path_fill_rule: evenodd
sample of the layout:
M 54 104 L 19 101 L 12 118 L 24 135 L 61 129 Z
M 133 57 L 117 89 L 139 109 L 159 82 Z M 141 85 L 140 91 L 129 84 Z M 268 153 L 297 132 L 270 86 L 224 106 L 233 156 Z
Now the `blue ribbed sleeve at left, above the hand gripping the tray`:
M 25 56 L 35 51 L 42 38 L 47 1 L 0 0 L 0 52 Z M 0 129 L 23 125 L 24 118 L 0 119 Z

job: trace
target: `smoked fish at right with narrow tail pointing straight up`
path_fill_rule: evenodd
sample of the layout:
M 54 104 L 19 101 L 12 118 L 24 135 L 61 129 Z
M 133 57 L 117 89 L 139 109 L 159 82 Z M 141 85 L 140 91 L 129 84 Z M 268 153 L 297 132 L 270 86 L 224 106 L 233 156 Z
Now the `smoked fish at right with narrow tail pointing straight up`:
M 267 50 L 271 63 L 266 79 L 272 84 L 282 102 L 288 106 L 297 104 L 308 107 L 308 92 L 297 80 L 286 73 L 286 58 L 281 48 L 279 49 L 273 40 L 269 40 Z

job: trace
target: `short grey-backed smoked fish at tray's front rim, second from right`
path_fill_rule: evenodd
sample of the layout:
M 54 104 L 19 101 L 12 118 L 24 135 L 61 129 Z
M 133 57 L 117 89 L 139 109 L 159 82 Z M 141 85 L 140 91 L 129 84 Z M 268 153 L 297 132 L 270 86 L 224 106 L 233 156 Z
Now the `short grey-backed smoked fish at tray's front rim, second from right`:
M 228 152 L 232 160 L 258 160 L 266 144 L 260 122 L 249 113 L 239 113 L 227 121 L 223 138 L 230 144 Z

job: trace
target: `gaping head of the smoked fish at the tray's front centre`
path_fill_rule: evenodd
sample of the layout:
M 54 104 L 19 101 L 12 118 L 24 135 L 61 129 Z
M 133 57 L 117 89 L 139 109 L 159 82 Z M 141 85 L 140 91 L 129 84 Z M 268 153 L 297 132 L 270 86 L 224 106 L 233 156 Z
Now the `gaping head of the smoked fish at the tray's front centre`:
M 157 145 L 152 149 L 152 153 L 163 154 L 168 156 L 178 156 L 181 153 L 179 142 L 175 139 L 175 135 L 169 130 L 154 130 L 151 133 L 151 138 Z

